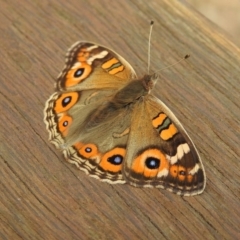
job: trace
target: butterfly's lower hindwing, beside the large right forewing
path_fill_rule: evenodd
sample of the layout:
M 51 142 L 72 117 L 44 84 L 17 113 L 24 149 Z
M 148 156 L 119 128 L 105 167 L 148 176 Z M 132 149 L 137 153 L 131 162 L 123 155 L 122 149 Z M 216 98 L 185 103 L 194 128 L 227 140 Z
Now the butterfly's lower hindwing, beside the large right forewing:
M 63 153 L 67 161 L 92 177 L 109 183 L 125 183 L 122 165 L 131 112 L 123 109 L 111 114 L 111 111 L 106 105 L 101 111 L 91 114 L 87 130 L 83 130 L 78 141 Z

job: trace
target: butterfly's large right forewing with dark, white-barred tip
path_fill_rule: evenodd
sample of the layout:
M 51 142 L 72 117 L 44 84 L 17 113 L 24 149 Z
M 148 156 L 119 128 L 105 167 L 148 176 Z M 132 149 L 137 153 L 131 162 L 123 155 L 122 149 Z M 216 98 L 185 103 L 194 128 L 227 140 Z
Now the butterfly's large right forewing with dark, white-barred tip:
M 124 175 L 141 187 L 160 187 L 179 195 L 200 194 L 205 173 L 191 139 L 173 113 L 148 95 L 135 106 Z

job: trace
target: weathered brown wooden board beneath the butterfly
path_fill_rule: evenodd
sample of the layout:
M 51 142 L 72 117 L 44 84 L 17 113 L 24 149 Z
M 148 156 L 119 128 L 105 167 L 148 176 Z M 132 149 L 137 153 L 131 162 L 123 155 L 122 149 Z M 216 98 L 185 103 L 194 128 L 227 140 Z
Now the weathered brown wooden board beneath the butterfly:
M 0 239 L 239 239 L 240 50 L 178 1 L 0 1 Z M 43 108 L 66 49 L 111 47 L 147 68 L 156 94 L 202 156 L 205 192 L 109 185 L 66 163 L 48 142 Z

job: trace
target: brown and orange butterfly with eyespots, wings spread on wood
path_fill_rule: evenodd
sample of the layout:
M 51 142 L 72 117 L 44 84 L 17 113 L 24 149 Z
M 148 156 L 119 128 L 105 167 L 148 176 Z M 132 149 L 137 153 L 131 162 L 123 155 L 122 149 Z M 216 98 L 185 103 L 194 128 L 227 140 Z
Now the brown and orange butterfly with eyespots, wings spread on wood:
M 138 79 L 106 47 L 75 43 L 45 105 L 50 142 L 68 162 L 103 182 L 202 193 L 200 156 L 178 119 L 151 93 L 157 79 Z

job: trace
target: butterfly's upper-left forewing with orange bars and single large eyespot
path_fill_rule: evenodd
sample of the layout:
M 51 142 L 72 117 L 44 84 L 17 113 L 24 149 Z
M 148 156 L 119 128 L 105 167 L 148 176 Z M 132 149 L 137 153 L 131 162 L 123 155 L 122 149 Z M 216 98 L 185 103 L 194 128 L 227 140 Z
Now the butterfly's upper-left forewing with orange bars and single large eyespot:
M 114 51 L 95 43 L 77 42 L 66 55 L 58 90 L 120 88 L 136 77 L 131 65 Z

